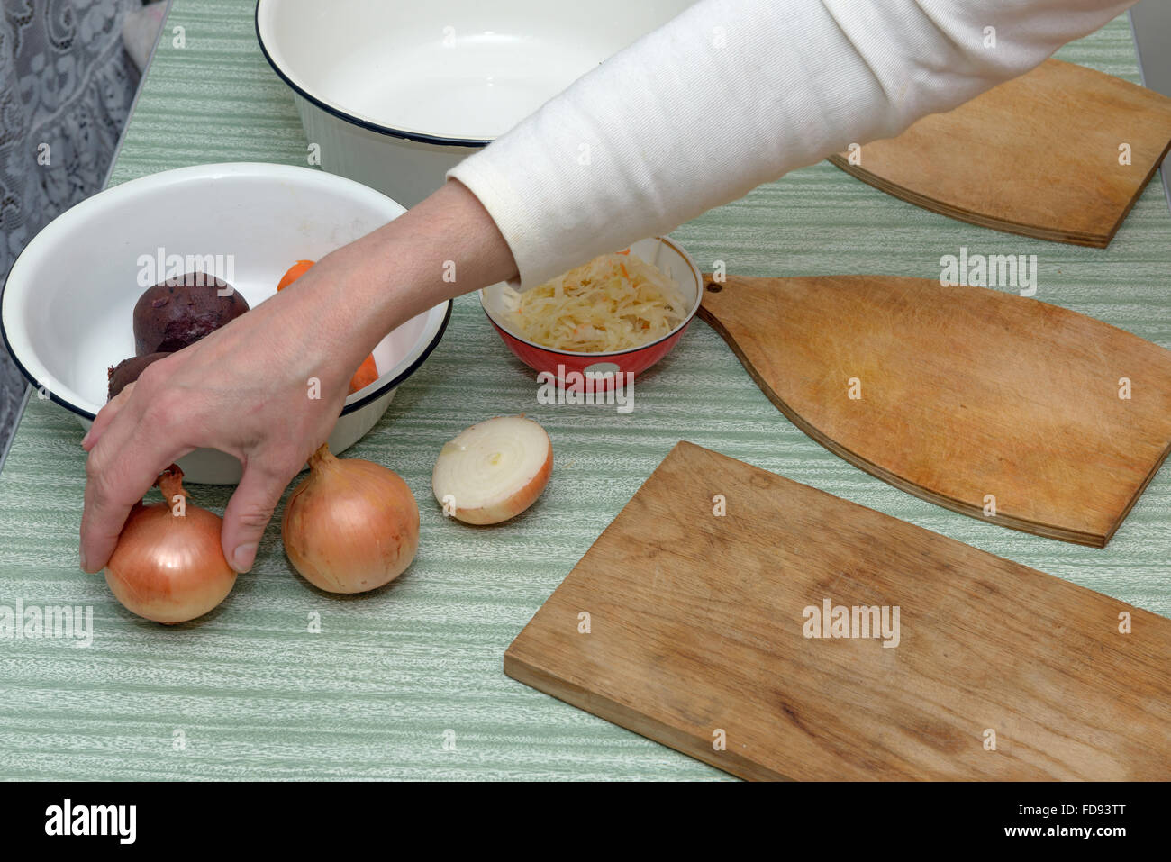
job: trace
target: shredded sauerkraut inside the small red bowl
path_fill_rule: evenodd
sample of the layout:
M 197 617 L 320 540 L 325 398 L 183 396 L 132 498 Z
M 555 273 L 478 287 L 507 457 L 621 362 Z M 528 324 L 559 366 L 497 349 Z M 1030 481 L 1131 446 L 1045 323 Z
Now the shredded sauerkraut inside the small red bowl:
M 513 294 L 507 322 L 516 334 L 571 353 L 650 343 L 679 326 L 690 310 L 671 279 L 629 252 L 603 254 Z

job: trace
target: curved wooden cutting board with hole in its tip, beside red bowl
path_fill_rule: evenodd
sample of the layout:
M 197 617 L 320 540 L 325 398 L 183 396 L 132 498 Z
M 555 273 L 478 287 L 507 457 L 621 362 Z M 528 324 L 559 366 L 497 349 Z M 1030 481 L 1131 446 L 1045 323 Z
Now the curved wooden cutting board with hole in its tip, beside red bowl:
M 1104 547 L 1171 451 L 1171 353 L 1057 306 L 886 275 L 707 276 L 699 315 L 817 443 L 993 524 Z

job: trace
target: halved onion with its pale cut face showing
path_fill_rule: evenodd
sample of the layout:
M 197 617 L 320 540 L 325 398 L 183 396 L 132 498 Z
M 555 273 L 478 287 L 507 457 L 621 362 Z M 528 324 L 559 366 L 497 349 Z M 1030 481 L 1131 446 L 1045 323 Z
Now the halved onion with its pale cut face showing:
M 523 416 L 499 416 L 444 444 L 431 490 L 444 513 L 465 524 L 499 524 L 532 506 L 549 484 L 553 443 Z

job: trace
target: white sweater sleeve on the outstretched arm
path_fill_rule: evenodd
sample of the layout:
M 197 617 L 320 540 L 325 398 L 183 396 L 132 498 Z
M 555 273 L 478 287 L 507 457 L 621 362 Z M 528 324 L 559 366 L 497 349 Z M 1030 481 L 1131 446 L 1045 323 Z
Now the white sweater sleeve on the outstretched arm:
M 701 0 L 447 176 L 534 287 L 950 110 L 1134 2 Z

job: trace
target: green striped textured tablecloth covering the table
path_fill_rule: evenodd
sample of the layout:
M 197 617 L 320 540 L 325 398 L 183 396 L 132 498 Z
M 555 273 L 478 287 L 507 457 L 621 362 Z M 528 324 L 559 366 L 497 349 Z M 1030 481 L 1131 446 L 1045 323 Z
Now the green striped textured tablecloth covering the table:
M 177 26 L 182 49 L 171 41 Z M 1138 81 L 1124 18 L 1057 56 Z M 252 4 L 177 0 L 111 182 L 204 162 L 304 164 L 304 156 L 292 96 L 256 47 Z M 748 275 L 938 278 L 939 256 L 960 246 L 1035 253 L 1038 299 L 1171 348 L 1171 217 L 1158 183 L 1105 251 L 951 221 L 827 164 L 673 235 L 701 267 L 723 259 Z M 418 498 L 411 569 L 375 595 L 329 596 L 292 574 L 269 527 L 228 601 L 172 629 L 131 616 L 101 576 L 80 572 L 82 432 L 33 398 L 0 474 L 0 604 L 93 606 L 95 638 L 89 648 L 0 641 L 0 777 L 726 778 L 501 670 L 513 637 L 679 439 L 1171 615 L 1169 468 L 1110 547 L 1094 550 L 953 514 L 849 466 L 789 424 L 701 322 L 638 378 L 636 396 L 628 416 L 537 404 L 533 374 L 474 297 L 458 300 L 443 343 L 350 452 L 398 471 Z M 554 442 L 545 497 L 491 529 L 446 520 L 430 491 L 440 445 L 473 422 L 520 411 Z M 194 495 L 222 512 L 228 490 L 197 486 Z M 320 634 L 309 631 L 314 614 Z

